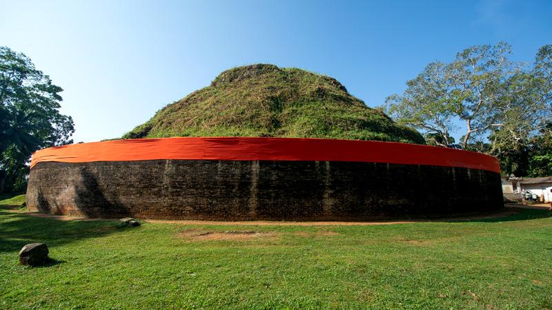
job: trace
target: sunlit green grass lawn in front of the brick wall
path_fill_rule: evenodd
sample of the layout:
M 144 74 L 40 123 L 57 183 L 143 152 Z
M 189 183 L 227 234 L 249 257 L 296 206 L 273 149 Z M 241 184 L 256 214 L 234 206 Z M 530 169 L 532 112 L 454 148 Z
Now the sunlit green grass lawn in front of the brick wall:
M 17 265 L 29 242 L 48 244 L 47 267 Z M 120 228 L 0 205 L 1 309 L 367 307 L 552 309 L 552 212 L 455 223 Z

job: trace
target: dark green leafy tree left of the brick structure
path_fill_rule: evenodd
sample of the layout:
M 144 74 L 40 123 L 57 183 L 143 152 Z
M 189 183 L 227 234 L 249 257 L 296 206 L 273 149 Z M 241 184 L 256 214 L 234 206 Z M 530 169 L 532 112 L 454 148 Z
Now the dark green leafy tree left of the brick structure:
M 0 47 L 0 169 L 6 190 L 24 189 L 32 152 L 72 143 L 72 118 L 59 113 L 61 91 L 27 56 Z

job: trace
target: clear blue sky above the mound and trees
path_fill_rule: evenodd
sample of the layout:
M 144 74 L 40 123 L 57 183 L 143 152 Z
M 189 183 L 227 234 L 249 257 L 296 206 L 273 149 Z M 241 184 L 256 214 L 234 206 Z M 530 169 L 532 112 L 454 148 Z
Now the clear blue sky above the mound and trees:
M 0 45 L 63 87 L 76 142 L 121 136 L 238 65 L 333 76 L 376 106 L 427 63 L 498 41 L 533 61 L 552 1 L 0 0 Z

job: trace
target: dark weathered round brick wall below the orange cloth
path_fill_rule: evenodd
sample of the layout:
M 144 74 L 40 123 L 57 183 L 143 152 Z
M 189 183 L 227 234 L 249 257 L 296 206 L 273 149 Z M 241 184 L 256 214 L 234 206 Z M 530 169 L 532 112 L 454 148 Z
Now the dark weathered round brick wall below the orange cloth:
M 500 176 L 427 165 L 155 160 L 38 163 L 31 210 L 90 218 L 375 220 L 500 209 Z

